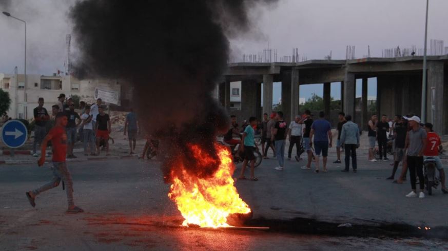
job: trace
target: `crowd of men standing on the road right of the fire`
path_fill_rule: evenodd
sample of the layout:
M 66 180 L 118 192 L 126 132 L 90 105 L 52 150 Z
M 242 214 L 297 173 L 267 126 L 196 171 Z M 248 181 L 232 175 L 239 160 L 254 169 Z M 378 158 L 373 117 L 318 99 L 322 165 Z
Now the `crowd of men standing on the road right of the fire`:
M 357 149 L 360 147 L 361 130 L 351 115 L 343 112 L 338 115 L 336 155 L 337 159 L 333 163 L 341 163 L 341 153 L 345 153 L 345 166 L 341 172 L 349 172 L 350 159 L 353 172 L 358 172 Z M 240 134 L 242 133 L 242 140 Z M 230 145 L 237 145 L 241 142 L 242 147 L 238 152 L 243 154 L 244 162 L 240 179 L 245 179 L 244 170 L 246 165 L 251 164 L 251 180 L 258 180 L 253 172 L 254 151 L 258 149 L 254 137 L 259 134 L 261 137 L 261 154 L 264 159 L 268 159 L 269 149 L 272 149 L 274 158 L 277 158 L 278 166 L 275 170 L 284 170 L 285 142 L 289 140 L 287 152 L 288 160 L 293 157 L 294 147 L 296 148 L 297 161 L 301 161 L 301 154 L 306 152 L 306 164 L 301 167 L 303 170 L 311 170 L 314 162 L 314 172 L 327 172 L 328 149 L 333 145 L 332 126 L 325 119 L 325 113 L 320 112 L 319 117 L 314 116 L 306 110 L 302 116 L 297 115 L 288 124 L 283 118 L 282 112 L 272 112 L 270 115 L 263 114 L 263 120 L 258 122 L 255 117 L 249 119 L 249 124 L 239 128 L 235 115 L 231 116 L 231 128 L 224 136 L 224 142 Z M 336 137 L 336 136 L 335 136 Z M 436 161 L 436 167 L 440 174 L 441 189 L 444 194 L 448 194 L 445 187 L 445 174 L 442 162 L 439 157 L 441 151 L 440 137 L 433 131 L 431 123 L 420 123 L 420 118 L 414 114 L 407 116 L 396 115 L 395 119 L 389 120 L 386 115 L 377 119 L 373 115 L 368 121 L 368 160 L 372 162 L 389 161 L 388 154 L 393 155 L 394 162 L 392 175 L 387 180 L 394 180 L 394 183 L 403 183 L 406 179 L 407 169 L 410 170 L 412 191 L 406 197 L 424 198 L 424 175 L 423 161 L 432 158 Z M 378 145 L 378 147 L 376 147 Z M 322 155 L 322 161 L 321 156 Z M 395 180 L 398 167 L 402 162 L 402 170 L 399 178 Z M 322 164 L 322 170 L 320 169 Z M 419 184 L 420 192 L 417 193 L 416 184 Z

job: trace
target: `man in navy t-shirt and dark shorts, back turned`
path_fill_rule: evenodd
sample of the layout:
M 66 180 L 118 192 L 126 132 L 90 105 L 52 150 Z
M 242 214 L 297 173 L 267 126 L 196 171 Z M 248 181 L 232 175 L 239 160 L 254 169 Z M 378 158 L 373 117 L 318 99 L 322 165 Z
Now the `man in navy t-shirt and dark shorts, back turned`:
M 333 137 L 332 137 L 332 126 L 330 122 L 324 119 L 325 113 L 319 113 L 319 119 L 311 124 L 311 132 L 309 133 L 309 145 L 312 145 L 313 135 L 314 135 L 314 150 L 316 152 L 316 173 L 319 173 L 319 157 L 322 152 L 322 162 L 323 171 L 327 172 L 327 156 L 328 147 L 332 147 Z M 328 143 L 329 139 L 329 143 Z

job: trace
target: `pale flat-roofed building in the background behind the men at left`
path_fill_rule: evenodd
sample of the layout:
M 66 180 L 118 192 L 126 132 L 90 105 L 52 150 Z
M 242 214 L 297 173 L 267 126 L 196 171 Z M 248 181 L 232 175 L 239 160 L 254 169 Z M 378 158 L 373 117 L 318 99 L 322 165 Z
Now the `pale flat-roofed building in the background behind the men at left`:
M 121 85 L 116 80 L 79 80 L 70 75 L 44 76 L 27 74 L 25 102 L 25 75 L 0 73 L 0 88 L 9 93 L 11 106 L 8 115 L 12 118 L 33 118 L 33 109 L 37 107 L 37 100 L 43 97 L 44 107 L 51 111 L 51 106 L 57 101 L 57 97 L 63 93 L 68 98 L 72 95 L 80 96 L 80 100 L 93 103 L 95 89 L 116 93 L 120 105 Z

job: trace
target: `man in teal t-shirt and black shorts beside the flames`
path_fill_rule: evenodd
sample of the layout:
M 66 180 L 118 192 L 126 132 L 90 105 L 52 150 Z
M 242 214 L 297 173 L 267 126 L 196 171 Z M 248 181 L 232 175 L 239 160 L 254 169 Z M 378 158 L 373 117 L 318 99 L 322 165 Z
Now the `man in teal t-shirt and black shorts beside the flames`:
M 244 129 L 243 138 L 241 139 L 241 142 L 243 142 L 244 147 L 240 148 L 240 156 L 242 156 L 244 152 L 244 162 L 243 162 L 243 168 L 241 169 L 241 174 L 238 179 L 246 179 L 244 177 L 244 171 L 246 170 L 247 162 L 250 161 L 250 180 L 257 181 L 258 179 L 254 175 L 254 169 L 255 169 L 255 140 L 254 140 L 254 127 L 257 126 L 257 118 L 256 117 L 250 117 L 249 118 L 250 126 L 247 126 Z

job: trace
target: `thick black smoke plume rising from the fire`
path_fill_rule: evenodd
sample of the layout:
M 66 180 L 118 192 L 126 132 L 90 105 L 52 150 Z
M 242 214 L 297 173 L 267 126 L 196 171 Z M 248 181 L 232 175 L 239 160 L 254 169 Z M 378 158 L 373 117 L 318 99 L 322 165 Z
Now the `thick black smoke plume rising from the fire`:
M 181 157 L 189 172 L 206 177 L 217 165 L 198 168 L 186 146 L 200 144 L 218 161 L 213 142 L 228 116 L 212 91 L 226 69 L 226 35 L 250 28 L 246 9 L 256 2 L 271 1 L 79 1 L 70 11 L 76 75 L 131 83 L 146 131 L 167 136 L 165 164 Z

